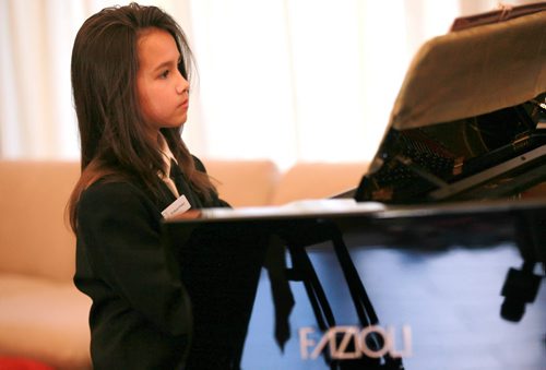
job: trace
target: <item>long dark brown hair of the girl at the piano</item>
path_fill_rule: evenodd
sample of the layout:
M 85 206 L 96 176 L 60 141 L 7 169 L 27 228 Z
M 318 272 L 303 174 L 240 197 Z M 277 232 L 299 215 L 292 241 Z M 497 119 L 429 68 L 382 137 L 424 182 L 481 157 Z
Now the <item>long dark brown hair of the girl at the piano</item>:
M 106 8 L 88 17 L 75 37 L 71 75 L 82 175 L 68 204 L 74 231 L 80 195 L 98 179 L 136 180 L 158 194 L 157 174 L 164 170 L 164 163 L 157 142 L 146 135 L 136 92 L 138 39 L 151 27 L 173 35 L 182 57 L 178 69 L 189 81 L 192 55 L 186 36 L 173 17 L 156 7 L 131 3 Z M 195 170 L 181 140 L 181 127 L 161 132 L 190 184 L 207 199 L 214 186 L 206 174 Z

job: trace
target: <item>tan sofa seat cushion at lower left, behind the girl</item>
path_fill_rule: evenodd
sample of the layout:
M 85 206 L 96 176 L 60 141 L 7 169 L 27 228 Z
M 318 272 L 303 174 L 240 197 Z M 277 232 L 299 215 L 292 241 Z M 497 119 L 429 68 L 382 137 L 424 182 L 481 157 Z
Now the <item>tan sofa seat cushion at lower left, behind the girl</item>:
M 91 369 L 91 299 L 72 283 L 0 274 L 0 356 Z

